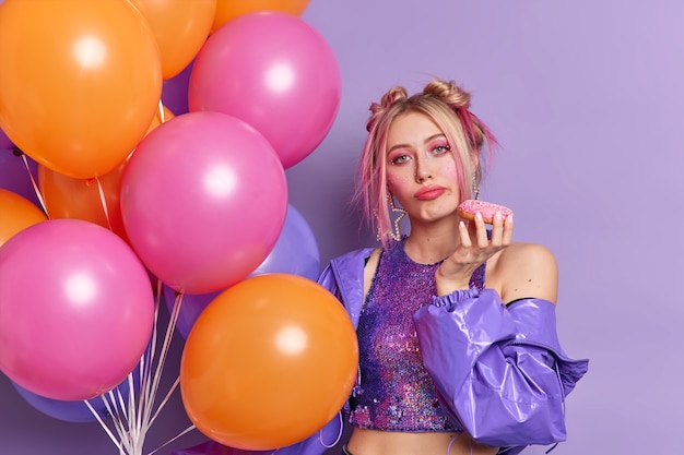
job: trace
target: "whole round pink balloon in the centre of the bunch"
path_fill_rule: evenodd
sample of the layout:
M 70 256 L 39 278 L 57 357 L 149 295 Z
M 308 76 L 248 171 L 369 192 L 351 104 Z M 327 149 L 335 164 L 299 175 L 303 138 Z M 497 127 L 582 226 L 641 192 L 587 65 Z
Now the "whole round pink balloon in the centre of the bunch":
M 245 278 L 269 254 L 287 211 L 271 144 L 221 112 L 189 112 L 138 145 L 121 181 L 121 217 L 142 262 L 185 294 Z

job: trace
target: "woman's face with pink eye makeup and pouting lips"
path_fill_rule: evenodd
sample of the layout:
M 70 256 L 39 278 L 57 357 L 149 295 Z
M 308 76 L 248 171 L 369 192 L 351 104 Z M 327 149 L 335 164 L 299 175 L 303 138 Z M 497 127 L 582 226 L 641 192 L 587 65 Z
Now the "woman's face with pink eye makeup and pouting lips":
M 387 181 L 412 221 L 452 215 L 460 202 L 451 147 L 437 124 L 421 112 L 405 112 L 390 124 Z

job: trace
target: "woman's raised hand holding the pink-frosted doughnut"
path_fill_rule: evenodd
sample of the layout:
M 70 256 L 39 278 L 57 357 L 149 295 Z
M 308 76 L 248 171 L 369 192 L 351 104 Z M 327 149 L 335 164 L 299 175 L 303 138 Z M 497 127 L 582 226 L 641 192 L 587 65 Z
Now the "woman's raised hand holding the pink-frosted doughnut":
M 435 272 L 437 295 L 446 296 L 455 290 L 468 289 L 473 272 L 511 243 L 512 228 L 512 215 L 504 219 L 498 212 L 492 223 L 491 238 L 487 238 L 481 214 L 475 215 L 474 226 L 470 230 L 465 223 L 460 221 L 458 228 L 460 243 L 453 254 Z

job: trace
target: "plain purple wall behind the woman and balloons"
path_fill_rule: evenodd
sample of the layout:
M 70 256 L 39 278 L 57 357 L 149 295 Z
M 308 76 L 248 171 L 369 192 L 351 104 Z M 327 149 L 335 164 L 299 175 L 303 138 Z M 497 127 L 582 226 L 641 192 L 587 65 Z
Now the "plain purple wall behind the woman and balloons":
M 554 455 L 681 451 L 683 15 L 667 0 L 312 0 L 303 16 L 334 49 L 343 84 L 332 131 L 287 171 L 321 262 L 373 241 L 345 204 L 367 107 L 390 85 L 455 79 L 497 134 L 483 196 L 516 211 L 518 240 L 555 252 L 562 340 L 591 358 Z M 150 450 L 186 426 L 175 399 Z M 0 376 L 0 453 L 117 451 L 97 423 L 46 417 Z

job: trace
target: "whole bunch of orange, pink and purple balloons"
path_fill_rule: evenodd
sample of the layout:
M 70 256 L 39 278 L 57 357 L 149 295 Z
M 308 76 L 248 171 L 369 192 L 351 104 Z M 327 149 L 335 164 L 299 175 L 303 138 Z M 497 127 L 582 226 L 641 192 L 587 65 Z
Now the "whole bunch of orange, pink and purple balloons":
M 105 415 L 164 298 L 214 441 L 293 444 L 340 409 L 355 335 L 285 176 L 341 99 L 307 5 L 0 0 L 0 371 L 34 407 Z

